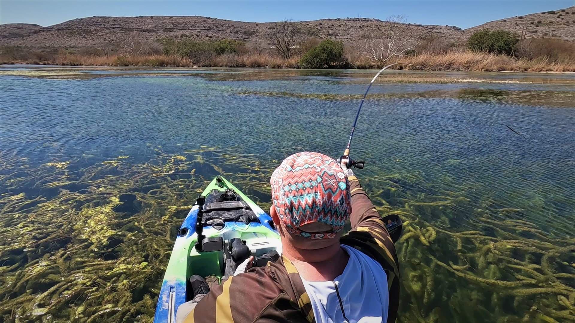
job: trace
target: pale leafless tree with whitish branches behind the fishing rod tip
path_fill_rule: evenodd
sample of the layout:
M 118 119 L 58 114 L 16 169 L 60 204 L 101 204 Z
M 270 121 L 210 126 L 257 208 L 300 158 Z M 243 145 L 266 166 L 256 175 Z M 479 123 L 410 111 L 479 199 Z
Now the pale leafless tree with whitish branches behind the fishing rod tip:
M 388 30 L 365 34 L 356 41 L 359 54 L 384 63 L 394 56 L 405 56 L 422 41 L 421 33 L 405 23 L 405 16 L 391 16 L 387 25 Z

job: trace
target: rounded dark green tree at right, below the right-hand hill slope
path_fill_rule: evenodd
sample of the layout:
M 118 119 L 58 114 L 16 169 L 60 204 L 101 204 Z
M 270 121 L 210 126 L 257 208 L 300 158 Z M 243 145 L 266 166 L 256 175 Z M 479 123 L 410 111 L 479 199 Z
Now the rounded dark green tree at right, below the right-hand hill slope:
M 467 40 L 467 48 L 476 52 L 511 55 L 519 43 L 517 34 L 506 30 L 484 29 L 475 32 Z

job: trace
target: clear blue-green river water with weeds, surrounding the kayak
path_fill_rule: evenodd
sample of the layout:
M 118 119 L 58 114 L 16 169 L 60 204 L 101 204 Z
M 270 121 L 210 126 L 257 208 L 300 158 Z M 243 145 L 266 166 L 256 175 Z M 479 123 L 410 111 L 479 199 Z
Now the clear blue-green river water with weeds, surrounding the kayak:
M 269 207 L 283 157 L 341 153 L 369 74 L 1 68 L 2 320 L 151 321 L 202 187 Z M 373 87 L 352 152 L 407 221 L 400 321 L 575 320 L 575 77 L 442 76 L 527 83 Z

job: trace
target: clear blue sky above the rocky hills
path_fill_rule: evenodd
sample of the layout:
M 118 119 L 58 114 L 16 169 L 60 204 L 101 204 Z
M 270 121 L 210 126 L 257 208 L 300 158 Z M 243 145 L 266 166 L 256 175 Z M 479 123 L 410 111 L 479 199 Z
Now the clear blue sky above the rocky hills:
M 207 16 L 241 21 L 316 20 L 404 14 L 408 22 L 469 28 L 487 21 L 562 9 L 575 0 L 0 0 L 0 24 L 49 26 L 90 16 Z

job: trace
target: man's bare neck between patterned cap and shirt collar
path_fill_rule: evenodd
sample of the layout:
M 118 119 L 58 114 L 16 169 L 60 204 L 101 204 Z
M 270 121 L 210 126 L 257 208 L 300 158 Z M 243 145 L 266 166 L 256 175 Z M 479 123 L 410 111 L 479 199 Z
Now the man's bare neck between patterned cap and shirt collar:
M 300 276 L 310 282 L 325 282 L 341 275 L 350 256 L 339 242 L 314 250 L 283 245 L 282 255 L 291 260 Z

